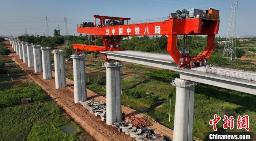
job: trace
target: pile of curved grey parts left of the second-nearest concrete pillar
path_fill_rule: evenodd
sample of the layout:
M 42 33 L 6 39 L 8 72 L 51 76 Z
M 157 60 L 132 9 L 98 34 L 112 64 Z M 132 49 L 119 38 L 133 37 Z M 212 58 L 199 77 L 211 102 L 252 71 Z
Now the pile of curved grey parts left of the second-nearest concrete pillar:
M 79 101 L 80 104 L 82 104 L 86 109 L 90 111 L 91 114 L 94 114 L 95 116 L 100 116 L 101 121 L 106 121 L 106 106 L 98 101 Z

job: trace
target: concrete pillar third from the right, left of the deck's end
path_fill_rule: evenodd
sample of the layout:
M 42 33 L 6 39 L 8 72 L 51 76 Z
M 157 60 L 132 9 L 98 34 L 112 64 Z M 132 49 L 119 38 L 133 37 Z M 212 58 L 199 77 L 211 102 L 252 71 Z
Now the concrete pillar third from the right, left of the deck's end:
M 71 55 L 74 69 L 74 102 L 87 100 L 86 81 L 85 81 L 85 55 Z

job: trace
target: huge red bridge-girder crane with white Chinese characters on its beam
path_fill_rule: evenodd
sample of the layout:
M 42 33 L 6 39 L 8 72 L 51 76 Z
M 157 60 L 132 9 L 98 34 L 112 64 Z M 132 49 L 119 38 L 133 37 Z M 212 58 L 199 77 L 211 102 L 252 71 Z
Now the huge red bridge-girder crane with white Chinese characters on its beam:
M 94 15 L 94 18 L 95 23 L 96 18 L 99 19 L 98 25 L 84 22 L 77 31 L 101 36 L 105 46 L 97 46 L 95 41 L 95 45 L 73 44 L 74 49 L 94 52 L 122 51 L 120 47 L 122 36 L 167 35 L 167 52 L 180 67 L 187 67 L 187 64 L 191 63 L 199 65 L 205 59 L 209 59 L 216 48 L 214 39 L 219 31 L 219 11 L 213 8 L 177 10 L 165 18 L 141 21 L 128 22 L 130 18 L 99 15 Z M 207 35 L 207 46 L 202 53 L 191 56 L 187 51 L 178 51 L 177 35 Z M 108 60 L 106 57 L 106 61 Z

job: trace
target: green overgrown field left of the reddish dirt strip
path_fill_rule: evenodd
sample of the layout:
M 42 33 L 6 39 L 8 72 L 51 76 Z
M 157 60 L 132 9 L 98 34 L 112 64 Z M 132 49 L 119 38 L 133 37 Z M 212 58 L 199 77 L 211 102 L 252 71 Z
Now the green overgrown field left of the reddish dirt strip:
M 14 77 L 23 73 L 17 65 L 1 69 L 8 70 Z M 0 97 L 0 140 L 78 140 L 77 135 L 83 132 L 34 82 L 29 87 L 29 81 L 11 82 L 1 77 Z M 32 102 L 21 104 L 20 99 L 27 97 L 31 97 Z M 77 130 L 67 135 L 60 126 L 70 123 Z

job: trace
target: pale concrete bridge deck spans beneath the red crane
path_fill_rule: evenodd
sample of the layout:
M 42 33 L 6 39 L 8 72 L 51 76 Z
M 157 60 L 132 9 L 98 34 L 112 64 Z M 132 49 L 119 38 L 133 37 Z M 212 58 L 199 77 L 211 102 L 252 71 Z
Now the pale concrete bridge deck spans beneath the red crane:
M 126 61 L 180 73 L 180 78 L 256 95 L 256 73 L 226 68 L 178 69 L 170 55 L 138 51 L 101 51 L 109 59 Z

